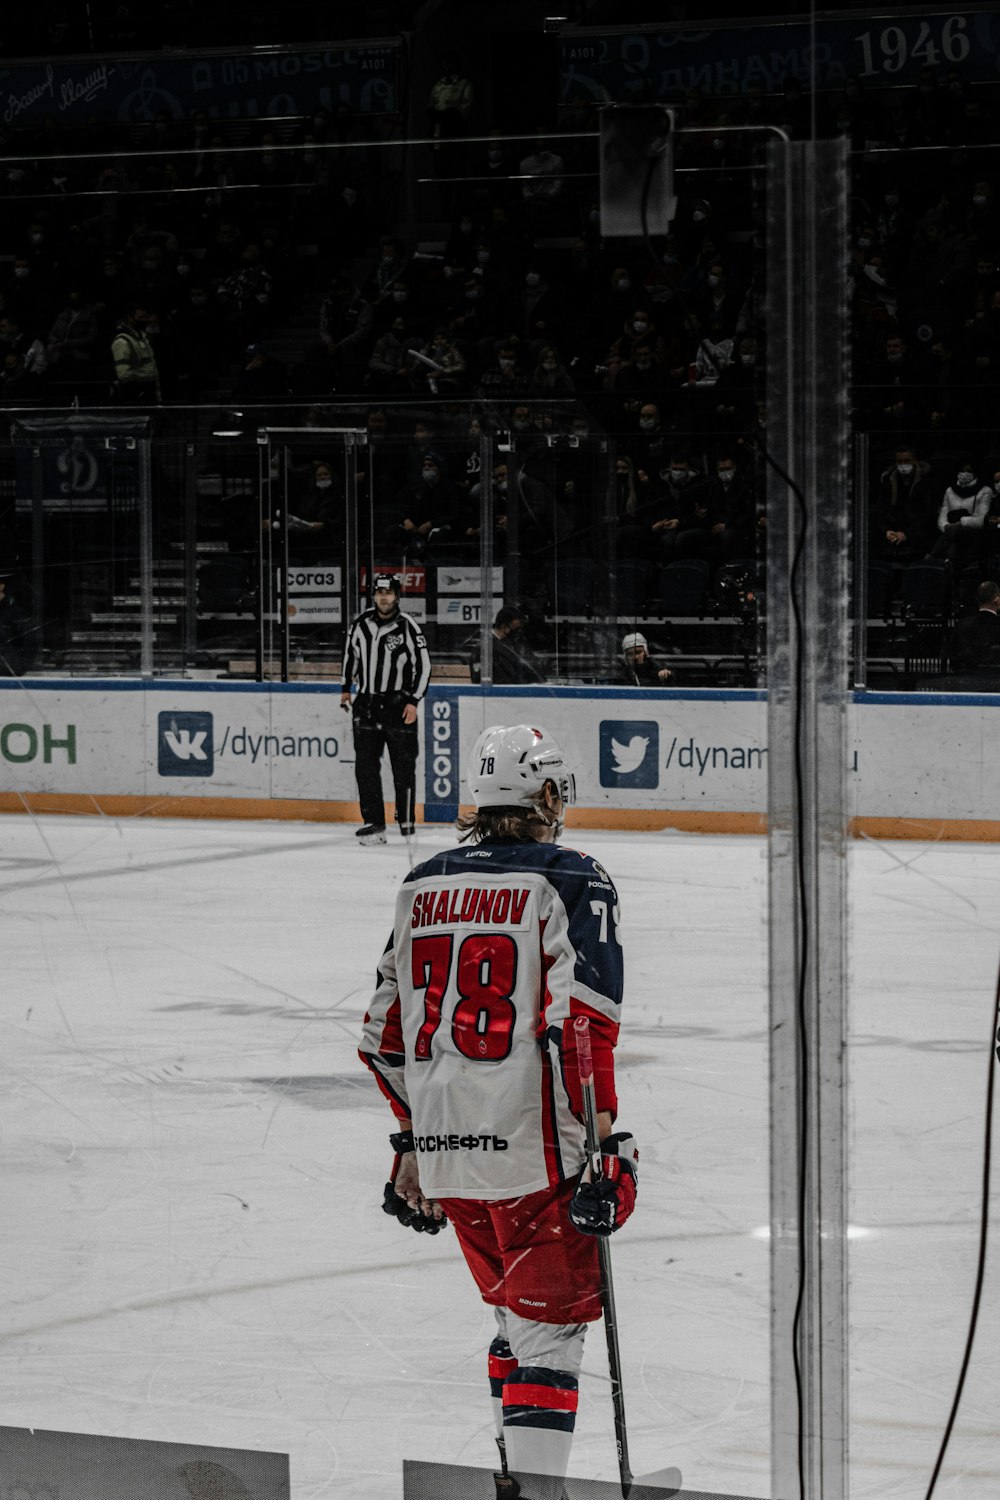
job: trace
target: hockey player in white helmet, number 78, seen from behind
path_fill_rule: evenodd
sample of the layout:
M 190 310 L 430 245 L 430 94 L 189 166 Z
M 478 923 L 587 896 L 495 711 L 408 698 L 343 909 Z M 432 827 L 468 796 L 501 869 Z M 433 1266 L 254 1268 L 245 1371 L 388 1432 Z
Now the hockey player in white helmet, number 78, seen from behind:
M 574 778 L 544 729 L 486 729 L 468 782 L 459 848 L 399 891 L 360 1053 L 397 1120 L 385 1212 L 430 1233 L 450 1222 L 496 1314 L 498 1496 L 559 1500 L 583 1335 L 601 1316 L 594 1236 L 636 1202 L 636 1143 L 613 1131 L 618 896 L 595 860 L 556 842 Z M 577 1016 L 591 1023 L 597 1180 Z

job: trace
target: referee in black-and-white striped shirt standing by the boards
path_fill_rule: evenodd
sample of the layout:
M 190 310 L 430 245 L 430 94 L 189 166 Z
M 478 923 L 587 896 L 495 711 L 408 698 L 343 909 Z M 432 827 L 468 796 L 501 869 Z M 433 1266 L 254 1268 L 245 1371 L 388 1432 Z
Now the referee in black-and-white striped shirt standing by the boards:
M 417 704 L 427 692 L 430 657 L 418 627 L 399 608 L 399 579 L 376 573 L 372 609 L 358 615 L 343 648 L 340 708 L 354 699 L 354 770 L 358 778 L 363 844 L 385 843 L 382 750 L 388 748 L 396 784 L 396 822 L 414 832 L 417 798 Z

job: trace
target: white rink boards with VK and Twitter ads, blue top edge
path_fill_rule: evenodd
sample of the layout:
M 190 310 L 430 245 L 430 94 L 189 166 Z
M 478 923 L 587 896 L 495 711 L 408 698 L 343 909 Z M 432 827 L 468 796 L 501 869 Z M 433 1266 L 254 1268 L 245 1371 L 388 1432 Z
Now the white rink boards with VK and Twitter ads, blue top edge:
M 355 819 L 339 684 L 0 681 L 0 810 Z M 766 694 L 756 690 L 457 687 L 421 705 L 418 816 L 451 822 L 490 723 L 556 735 L 579 826 L 763 832 Z M 873 837 L 1000 838 L 1000 694 L 856 693 L 847 810 Z M 390 778 L 385 777 L 391 794 Z

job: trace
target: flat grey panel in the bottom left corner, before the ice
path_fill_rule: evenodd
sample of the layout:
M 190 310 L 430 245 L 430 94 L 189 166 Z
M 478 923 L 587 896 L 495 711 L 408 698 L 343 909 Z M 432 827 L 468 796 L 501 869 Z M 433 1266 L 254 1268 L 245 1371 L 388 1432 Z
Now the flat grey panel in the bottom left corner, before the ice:
M 288 1454 L 0 1426 L 0 1494 L 34 1500 L 289 1500 Z

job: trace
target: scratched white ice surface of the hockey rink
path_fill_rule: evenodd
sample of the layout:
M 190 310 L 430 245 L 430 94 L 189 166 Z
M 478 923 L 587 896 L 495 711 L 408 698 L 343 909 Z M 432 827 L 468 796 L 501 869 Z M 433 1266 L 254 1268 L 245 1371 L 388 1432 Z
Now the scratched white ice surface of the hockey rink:
M 633 1467 L 771 1497 L 766 849 L 567 842 L 627 922 Z M 382 1215 L 355 1054 L 405 868 L 340 826 L 0 820 L 0 1425 L 288 1452 L 294 1500 L 492 1466 L 492 1317 L 451 1236 Z M 853 1500 L 922 1500 L 958 1377 L 999 897 L 991 846 L 852 852 Z M 939 1496 L 1000 1494 L 999 1260 L 994 1214 Z M 616 1474 L 600 1328 L 573 1470 Z

